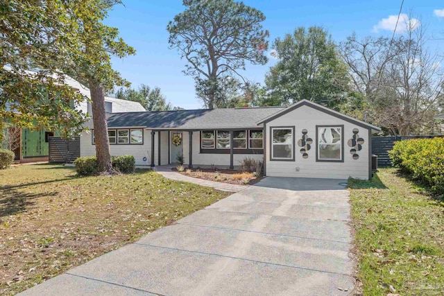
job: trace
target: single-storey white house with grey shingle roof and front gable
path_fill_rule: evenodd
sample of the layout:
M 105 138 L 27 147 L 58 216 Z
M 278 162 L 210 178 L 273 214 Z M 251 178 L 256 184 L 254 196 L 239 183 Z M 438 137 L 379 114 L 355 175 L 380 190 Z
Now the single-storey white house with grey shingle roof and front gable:
M 89 128 L 80 136 L 80 156 L 95 155 Z M 280 177 L 369 179 L 371 134 L 379 131 L 307 100 L 289 107 L 108 116 L 111 154 L 133 155 L 139 167 L 174 164 L 182 155 L 190 168 L 234 168 L 253 157 L 264 159 L 265 175 Z

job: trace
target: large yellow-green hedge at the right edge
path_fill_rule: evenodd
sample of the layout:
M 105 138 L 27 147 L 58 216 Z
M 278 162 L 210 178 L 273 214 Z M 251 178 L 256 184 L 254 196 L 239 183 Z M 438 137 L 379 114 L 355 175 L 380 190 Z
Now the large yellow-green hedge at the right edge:
M 398 141 L 388 153 L 393 166 L 444 193 L 444 138 Z

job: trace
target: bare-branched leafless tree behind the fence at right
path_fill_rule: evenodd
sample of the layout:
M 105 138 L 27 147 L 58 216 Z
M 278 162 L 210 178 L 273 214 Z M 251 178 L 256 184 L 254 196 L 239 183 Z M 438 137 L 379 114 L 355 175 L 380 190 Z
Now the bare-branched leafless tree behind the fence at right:
M 429 49 L 425 33 L 416 22 L 393 39 L 352 35 L 341 44 L 355 91 L 366 99 L 373 122 L 391 134 L 431 125 L 443 95 L 442 58 Z

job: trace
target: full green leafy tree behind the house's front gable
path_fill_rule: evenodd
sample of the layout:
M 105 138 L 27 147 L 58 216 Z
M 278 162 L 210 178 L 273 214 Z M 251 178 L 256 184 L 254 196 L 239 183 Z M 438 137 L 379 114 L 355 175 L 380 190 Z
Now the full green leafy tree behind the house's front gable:
M 324 28 L 297 28 L 273 43 L 278 63 L 266 75 L 271 100 L 288 105 L 302 99 L 335 107 L 348 91 L 348 69 Z

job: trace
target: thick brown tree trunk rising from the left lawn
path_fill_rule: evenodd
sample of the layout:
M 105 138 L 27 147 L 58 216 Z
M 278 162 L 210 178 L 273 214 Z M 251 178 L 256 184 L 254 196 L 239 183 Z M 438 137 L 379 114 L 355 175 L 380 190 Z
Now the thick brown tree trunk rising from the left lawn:
M 108 139 L 108 123 L 106 122 L 103 87 L 89 80 L 89 90 L 92 100 L 92 121 L 94 123 L 96 157 L 99 162 L 99 171 L 111 173 L 110 140 Z

